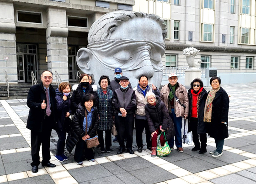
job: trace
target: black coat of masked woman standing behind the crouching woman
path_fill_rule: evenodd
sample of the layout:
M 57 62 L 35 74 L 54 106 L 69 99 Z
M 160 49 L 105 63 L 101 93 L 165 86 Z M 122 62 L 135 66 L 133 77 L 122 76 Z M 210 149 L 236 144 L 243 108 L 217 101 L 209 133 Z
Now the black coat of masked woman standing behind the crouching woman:
M 75 113 L 77 105 L 83 100 L 83 97 L 86 94 L 93 94 L 96 97 L 96 90 L 98 87 L 96 85 L 88 85 L 85 93 L 83 92 L 81 84 L 75 84 L 72 86 L 73 94 L 71 96 L 71 109 L 72 112 Z M 97 103 L 97 102 L 96 102 Z M 96 106 L 96 104 L 94 104 Z

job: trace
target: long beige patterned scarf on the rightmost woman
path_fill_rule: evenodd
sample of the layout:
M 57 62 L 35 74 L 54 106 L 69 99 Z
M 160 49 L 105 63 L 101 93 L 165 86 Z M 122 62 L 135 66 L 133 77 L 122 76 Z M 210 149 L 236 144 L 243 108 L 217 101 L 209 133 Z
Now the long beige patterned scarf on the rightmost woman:
M 203 116 L 203 121 L 205 122 L 212 122 L 213 99 L 215 98 L 215 95 L 219 89 L 220 87 L 218 89 L 211 89 L 207 96 Z

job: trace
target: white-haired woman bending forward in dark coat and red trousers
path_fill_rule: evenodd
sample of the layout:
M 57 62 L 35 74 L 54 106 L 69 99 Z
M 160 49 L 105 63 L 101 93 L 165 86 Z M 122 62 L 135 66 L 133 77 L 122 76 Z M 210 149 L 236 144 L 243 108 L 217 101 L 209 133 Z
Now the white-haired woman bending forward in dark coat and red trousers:
M 169 140 L 175 136 L 175 129 L 165 103 L 161 101 L 160 97 L 155 96 L 152 92 L 148 92 L 145 99 L 148 102 L 145 105 L 145 111 L 152 137 L 151 157 L 155 157 L 157 136 L 160 134 L 160 131 L 165 131 L 166 140 Z M 161 134 L 160 143 L 161 146 L 165 144 L 163 134 Z

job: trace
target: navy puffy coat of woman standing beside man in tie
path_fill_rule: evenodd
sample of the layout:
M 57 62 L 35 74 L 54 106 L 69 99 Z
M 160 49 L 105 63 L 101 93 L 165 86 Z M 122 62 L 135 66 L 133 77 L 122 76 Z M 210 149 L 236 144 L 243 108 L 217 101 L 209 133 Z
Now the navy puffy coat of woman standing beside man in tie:
M 56 108 L 57 108 L 57 128 L 63 130 L 68 128 L 67 125 L 64 126 L 65 122 L 69 122 L 70 118 L 65 117 L 67 112 L 71 115 L 71 97 L 67 96 L 67 100 L 63 100 L 63 93 L 59 91 L 59 88 L 55 90 L 56 92 Z

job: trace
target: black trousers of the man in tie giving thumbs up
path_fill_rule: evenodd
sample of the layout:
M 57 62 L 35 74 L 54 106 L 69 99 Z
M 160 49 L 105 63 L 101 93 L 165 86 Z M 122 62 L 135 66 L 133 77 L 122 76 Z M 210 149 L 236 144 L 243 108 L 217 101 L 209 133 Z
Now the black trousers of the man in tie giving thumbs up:
M 32 163 L 31 166 L 38 166 L 40 164 L 39 151 L 42 144 L 42 164 L 47 164 L 50 162 L 50 137 L 52 133 L 52 125 L 54 123 L 53 116 L 45 116 L 43 121 L 43 131 L 31 131 L 31 156 Z

